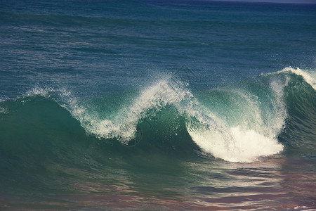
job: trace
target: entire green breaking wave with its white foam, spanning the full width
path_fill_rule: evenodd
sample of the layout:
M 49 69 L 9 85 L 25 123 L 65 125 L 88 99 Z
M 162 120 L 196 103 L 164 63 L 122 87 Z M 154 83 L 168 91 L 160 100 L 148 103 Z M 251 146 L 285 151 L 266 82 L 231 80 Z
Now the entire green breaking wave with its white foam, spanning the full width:
M 69 136 L 80 144 L 121 143 L 107 148 L 111 153 L 134 146 L 230 162 L 253 162 L 305 143 L 315 150 L 315 76 L 308 70 L 285 68 L 195 94 L 189 88 L 167 77 L 140 93 L 78 101 L 65 89 L 36 87 L 0 102 L 1 151 L 15 154 L 21 148 L 11 140 L 27 139 L 28 153 L 53 153 L 62 151 L 55 141 Z

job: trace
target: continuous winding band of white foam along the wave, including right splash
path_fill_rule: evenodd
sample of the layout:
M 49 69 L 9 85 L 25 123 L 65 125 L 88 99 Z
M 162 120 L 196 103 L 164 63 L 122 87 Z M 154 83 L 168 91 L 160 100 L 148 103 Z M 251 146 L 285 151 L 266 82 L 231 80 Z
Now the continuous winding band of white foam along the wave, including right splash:
M 285 71 L 285 70 L 282 70 Z M 187 87 L 180 82 L 164 79 L 144 89 L 131 106 L 122 108 L 113 119 L 102 119 L 91 110 L 79 106 L 70 92 L 58 90 L 65 106 L 81 122 L 86 132 L 98 138 L 116 138 L 128 144 L 136 137 L 138 122 L 148 115 L 154 115 L 167 105 L 174 106 L 187 116 L 187 131 L 192 140 L 205 153 L 230 162 L 252 162 L 261 156 L 273 155 L 282 151 L 277 135 L 284 127 L 287 111 L 283 102 L 283 89 L 287 82 L 272 79 L 270 82 L 271 107 L 263 110 L 258 98 L 243 90 L 230 90 L 238 95 L 236 105 L 240 120 L 235 125 L 228 124 L 225 116 L 218 116 L 212 108 L 204 109 Z M 267 89 L 269 89 L 267 87 Z M 28 95 L 48 95 L 52 89 L 34 89 Z M 242 99 L 242 100 L 241 100 Z M 155 112 L 148 113 L 149 110 Z

